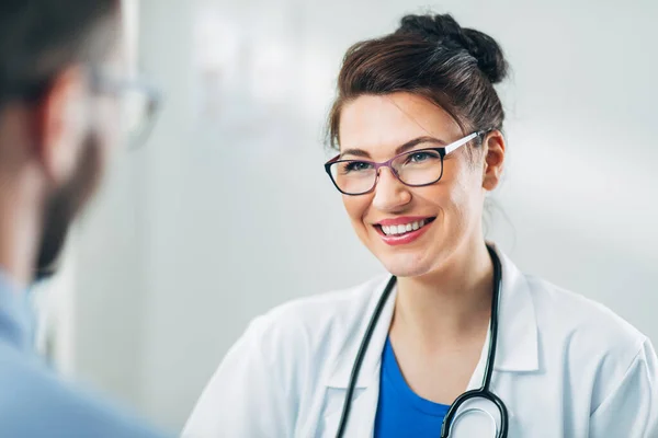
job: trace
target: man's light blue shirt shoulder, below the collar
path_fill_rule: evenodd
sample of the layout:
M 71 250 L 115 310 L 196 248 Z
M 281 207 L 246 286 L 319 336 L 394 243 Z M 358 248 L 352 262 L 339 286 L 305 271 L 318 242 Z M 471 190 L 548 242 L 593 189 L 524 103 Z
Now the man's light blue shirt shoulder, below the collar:
M 161 437 L 121 407 L 2 343 L 0 388 L 3 437 Z

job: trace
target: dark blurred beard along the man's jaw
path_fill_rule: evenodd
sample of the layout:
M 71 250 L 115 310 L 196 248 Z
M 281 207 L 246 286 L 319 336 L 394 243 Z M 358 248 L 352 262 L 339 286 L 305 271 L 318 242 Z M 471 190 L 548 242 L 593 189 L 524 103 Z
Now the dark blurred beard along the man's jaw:
M 81 152 L 78 169 L 71 178 L 57 188 L 47 200 L 35 280 L 52 277 L 58 267 L 71 222 L 97 188 L 102 169 L 100 142 L 90 135 Z

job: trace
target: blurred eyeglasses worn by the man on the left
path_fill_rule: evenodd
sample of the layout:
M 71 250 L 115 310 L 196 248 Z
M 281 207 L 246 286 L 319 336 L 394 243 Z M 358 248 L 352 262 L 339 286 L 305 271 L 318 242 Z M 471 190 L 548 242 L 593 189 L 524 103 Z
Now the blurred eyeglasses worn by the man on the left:
M 98 69 L 92 70 L 92 87 L 120 99 L 121 129 L 128 148 L 141 146 L 155 126 L 161 93 L 144 81 L 115 78 Z

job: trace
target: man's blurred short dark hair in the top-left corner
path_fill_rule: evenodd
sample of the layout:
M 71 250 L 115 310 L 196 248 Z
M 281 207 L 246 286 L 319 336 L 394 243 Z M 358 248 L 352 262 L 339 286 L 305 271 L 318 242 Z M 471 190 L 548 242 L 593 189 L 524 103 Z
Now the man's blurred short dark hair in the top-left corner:
M 36 99 L 67 66 L 102 60 L 120 0 L 2 0 L 0 106 Z

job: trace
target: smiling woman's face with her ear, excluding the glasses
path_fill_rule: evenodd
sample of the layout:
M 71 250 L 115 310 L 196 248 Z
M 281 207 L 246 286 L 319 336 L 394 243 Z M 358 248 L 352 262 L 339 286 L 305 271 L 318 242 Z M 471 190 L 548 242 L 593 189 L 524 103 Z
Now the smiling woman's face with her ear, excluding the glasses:
M 442 147 L 468 134 L 422 96 L 364 95 L 342 108 L 341 159 L 384 162 L 411 140 L 435 139 L 411 149 L 418 150 Z M 447 154 L 435 184 L 409 187 L 383 168 L 373 192 L 343 195 L 356 234 L 388 272 L 399 277 L 430 274 L 463 245 L 481 241 L 485 194 L 497 185 L 502 166 L 504 146 L 499 134 L 495 137 L 492 152 L 469 154 L 469 146 L 464 146 Z M 487 143 L 491 141 L 483 147 L 489 149 Z

